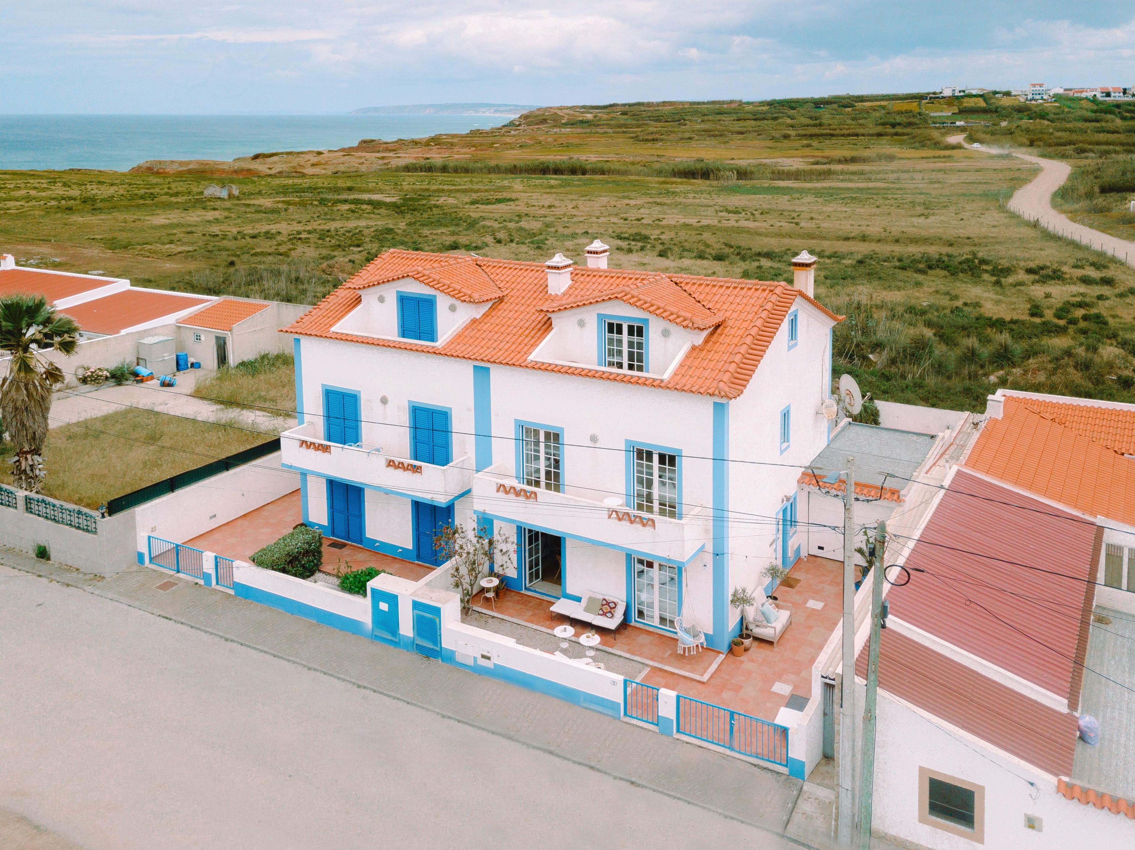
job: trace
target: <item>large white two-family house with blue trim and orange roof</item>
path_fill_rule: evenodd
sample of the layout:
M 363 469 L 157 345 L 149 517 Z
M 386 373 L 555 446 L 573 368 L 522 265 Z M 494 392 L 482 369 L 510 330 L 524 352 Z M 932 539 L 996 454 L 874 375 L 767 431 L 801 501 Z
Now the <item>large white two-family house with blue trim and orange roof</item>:
M 286 328 L 304 521 L 424 563 L 476 521 L 516 540 L 515 589 L 681 614 L 725 649 L 732 589 L 801 554 L 839 317 L 806 252 L 794 287 L 587 259 L 387 251 Z

